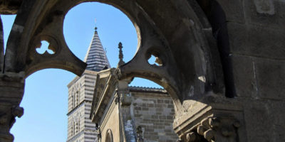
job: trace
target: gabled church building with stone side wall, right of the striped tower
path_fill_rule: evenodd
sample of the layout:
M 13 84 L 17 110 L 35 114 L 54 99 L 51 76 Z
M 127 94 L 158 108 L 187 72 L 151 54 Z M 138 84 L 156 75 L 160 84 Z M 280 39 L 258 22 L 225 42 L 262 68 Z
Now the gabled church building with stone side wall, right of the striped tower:
M 116 80 L 114 71 L 99 72 L 95 84 L 90 118 L 98 125 L 100 140 L 105 141 L 107 131 L 115 131 L 120 137 L 113 137 L 114 141 L 176 141 L 172 129 L 175 109 L 166 90 L 128 87 L 130 80 Z

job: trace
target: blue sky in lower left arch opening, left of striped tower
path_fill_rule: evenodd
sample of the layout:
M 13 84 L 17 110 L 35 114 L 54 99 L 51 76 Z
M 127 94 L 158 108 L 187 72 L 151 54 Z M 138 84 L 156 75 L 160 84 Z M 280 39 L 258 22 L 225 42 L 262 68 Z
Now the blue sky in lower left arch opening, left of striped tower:
M 11 129 L 14 141 L 66 141 L 68 89 L 73 73 L 45 69 L 26 78 L 24 116 Z M 53 137 L 51 137 L 53 136 Z

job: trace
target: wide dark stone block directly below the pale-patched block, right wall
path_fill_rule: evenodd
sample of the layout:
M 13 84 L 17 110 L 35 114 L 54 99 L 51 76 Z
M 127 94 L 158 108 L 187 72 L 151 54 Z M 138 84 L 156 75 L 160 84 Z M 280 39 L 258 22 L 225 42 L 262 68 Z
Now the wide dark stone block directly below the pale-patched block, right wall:
M 229 46 L 234 54 L 285 59 L 285 28 L 227 23 Z

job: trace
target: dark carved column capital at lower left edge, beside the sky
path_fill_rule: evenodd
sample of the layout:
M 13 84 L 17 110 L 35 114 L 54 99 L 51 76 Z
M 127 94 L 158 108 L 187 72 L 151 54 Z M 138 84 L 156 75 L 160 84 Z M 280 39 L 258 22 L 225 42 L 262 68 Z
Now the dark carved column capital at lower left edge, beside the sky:
M 6 73 L 0 75 L 0 141 L 12 142 L 14 136 L 10 129 L 21 117 L 24 109 L 19 107 L 24 94 L 24 74 Z

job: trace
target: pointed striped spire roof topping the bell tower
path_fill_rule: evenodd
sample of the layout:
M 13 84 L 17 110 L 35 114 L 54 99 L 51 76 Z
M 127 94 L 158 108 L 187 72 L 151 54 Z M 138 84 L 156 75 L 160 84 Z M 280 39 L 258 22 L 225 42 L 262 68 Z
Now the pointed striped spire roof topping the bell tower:
M 99 72 L 107 67 L 110 68 L 110 63 L 98 36 L 97 28 L 95 28 L 84 62 L 87 63 L 86 70 Z

